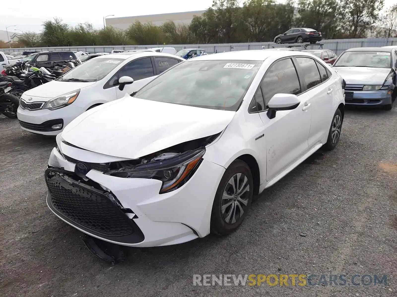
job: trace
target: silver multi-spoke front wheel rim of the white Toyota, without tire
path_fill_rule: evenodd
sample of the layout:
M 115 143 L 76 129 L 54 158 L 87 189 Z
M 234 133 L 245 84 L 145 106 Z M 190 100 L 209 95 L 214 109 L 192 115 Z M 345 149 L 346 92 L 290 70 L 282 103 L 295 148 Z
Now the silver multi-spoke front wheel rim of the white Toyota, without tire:
M 243 173 L 236 173 L 227 182 L 221 203 L 222 218 L 227 224 L 235 223 L 247 210 L 250 187 Z

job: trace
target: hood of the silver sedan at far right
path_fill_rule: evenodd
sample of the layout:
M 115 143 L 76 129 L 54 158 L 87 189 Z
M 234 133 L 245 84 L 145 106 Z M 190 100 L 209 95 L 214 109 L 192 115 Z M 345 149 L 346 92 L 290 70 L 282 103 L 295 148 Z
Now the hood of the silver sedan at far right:
M 390 68 L 332 67 L 348 85 L 382 85 Z

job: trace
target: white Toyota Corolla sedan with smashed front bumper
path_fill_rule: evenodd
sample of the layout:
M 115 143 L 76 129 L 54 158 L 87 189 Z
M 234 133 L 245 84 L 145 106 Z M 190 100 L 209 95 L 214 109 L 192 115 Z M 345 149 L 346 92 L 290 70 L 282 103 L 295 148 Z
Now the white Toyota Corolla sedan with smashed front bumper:
M 253 195 L 335 148 L 345 110 L 340 76 L 300 51 L 200 56 L 132 95 L 66 126 L 45 179 L 60 219 L 137 247 L 233 232 Z

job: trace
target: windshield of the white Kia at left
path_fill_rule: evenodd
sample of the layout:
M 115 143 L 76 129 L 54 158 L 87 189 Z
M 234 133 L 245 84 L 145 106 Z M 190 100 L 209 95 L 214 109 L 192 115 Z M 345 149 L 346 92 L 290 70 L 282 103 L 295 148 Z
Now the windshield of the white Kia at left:
M 123 59 L 98 58 L 90 59 L 87 62 L 75 67 L 63 76 L 62 81 L 81 81 L 81 82 L 97 82 L 115 69 Z

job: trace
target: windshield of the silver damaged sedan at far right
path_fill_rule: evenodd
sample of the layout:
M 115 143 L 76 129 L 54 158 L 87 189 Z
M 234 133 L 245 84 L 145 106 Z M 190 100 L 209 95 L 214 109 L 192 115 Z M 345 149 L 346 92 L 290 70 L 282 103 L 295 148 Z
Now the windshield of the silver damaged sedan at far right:
M 333 67 L 391 68 L 390 53 L 387 51 L 345 51 Z

